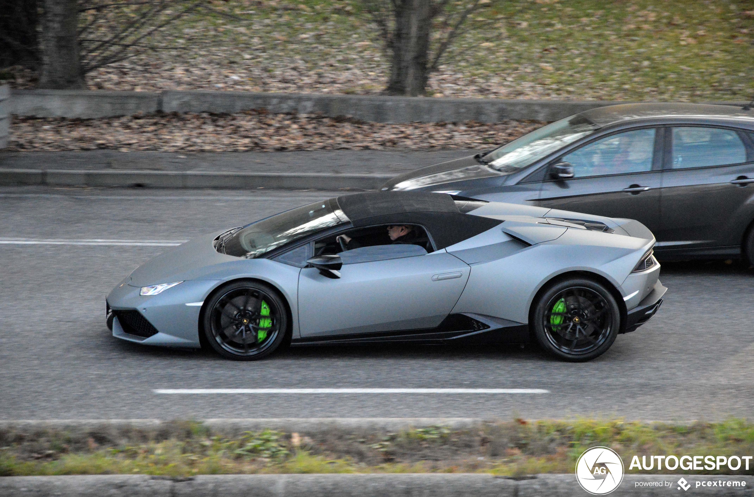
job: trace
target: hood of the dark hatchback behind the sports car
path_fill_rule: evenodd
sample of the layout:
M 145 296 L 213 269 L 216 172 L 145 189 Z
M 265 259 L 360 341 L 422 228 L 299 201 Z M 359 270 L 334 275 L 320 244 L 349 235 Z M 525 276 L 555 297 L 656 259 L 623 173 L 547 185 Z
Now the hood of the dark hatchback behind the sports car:
M 416 190 L 453 181 L 508 175 L 492 167 L 480 164 L 474 155 L 449 160 L 432 166 L 421 167 L 392 178 L 382 187 L 383 190 Z

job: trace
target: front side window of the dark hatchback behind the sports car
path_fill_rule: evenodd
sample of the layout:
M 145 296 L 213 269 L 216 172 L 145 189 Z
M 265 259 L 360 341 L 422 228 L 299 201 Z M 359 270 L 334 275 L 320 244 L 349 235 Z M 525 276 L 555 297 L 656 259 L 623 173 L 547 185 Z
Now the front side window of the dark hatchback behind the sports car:
M 654 128 L 611 135 L 579 148 L 564 157 L 575 178 L 651 171 Z

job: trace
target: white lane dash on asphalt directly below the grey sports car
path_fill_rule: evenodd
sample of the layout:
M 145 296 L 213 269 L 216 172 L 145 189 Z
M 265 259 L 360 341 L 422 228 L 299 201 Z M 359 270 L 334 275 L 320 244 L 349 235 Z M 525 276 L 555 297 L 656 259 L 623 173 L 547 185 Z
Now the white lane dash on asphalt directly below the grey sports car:
M 155 389 L 155 394 L 541 394 L 543 389 Z

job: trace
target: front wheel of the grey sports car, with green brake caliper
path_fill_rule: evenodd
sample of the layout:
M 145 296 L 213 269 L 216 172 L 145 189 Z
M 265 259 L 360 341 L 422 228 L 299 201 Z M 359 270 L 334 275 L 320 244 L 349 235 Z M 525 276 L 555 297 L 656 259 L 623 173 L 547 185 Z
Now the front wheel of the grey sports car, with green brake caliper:
M 274 352 L 288 331 L 283 299 L 268 285 L 254 281 L 228 283 L 204 311 L 204 335 L 219 355 L 256 361 Z

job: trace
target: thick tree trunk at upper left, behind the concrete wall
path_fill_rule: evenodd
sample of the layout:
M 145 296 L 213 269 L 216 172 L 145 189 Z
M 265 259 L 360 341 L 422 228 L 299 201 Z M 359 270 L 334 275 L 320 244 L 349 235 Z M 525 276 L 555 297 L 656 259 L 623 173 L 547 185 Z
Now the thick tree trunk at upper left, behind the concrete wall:
M 40 88 L 84 89 L 78 57 L 78 3 L 76 0 L 44 0 L 42 70 Z

